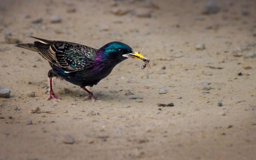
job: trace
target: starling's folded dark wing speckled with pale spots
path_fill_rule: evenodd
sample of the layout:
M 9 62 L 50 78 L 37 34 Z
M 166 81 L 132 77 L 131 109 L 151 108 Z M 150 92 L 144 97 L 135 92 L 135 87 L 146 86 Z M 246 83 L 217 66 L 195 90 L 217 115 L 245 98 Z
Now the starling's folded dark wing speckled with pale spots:
M 34 38 L 39 41 L 34 41 L 34 45 L 30 47 L 36 48 L 43 58 L 67 72 L 83 70 L 90 66 L 97 51 L 95 48 L 77 43 Z

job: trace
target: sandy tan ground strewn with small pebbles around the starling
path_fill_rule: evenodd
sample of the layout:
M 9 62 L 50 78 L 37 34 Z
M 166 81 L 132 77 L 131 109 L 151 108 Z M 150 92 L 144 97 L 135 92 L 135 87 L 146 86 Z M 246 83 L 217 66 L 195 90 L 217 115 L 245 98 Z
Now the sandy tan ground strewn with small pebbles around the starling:
M 255 158 L 256 57 L 248 56 L 256 51 L 256 1 L 219 0 L 210 15 L 201 13 L 204 0 L 154 4 L 1 0 L 0 87 L 11 90 L 0 98 L 1 160 Z M 79 86 L 54 79 L 62 100 L 47 101 L 47 61 L 11 44 L 32 42 L 30 35 L 95 48 L 122 41 L 143 47 L 151 68 L 134 59 L 118 64 L 89 88 L 95 102 L 85 101 Z M 41 113 L 31 113 L 36 107 Z

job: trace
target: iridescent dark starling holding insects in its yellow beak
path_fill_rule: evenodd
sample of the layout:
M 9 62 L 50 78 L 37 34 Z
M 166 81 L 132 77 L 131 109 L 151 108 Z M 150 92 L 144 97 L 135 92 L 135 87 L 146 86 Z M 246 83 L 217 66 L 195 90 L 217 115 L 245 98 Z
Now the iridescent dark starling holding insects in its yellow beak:
M 127 58 L 135 58 L 144 62 L 142 69 L 145 65 L 150 66 L 149 60 L 141 55 L 140 51 L 136 52 L 129 45 L 119 41 L 109 42 L 96 49 L 74 42 L 31 37 L 37 40 L 33 43 L 16 44 L 16 46 L 35 51 L 48 61 L 51 67 L 48 71 L 48 100 L 60 99 L 52 89 L 53 77 L 60 77 L 80 86 L 88 94 L 86 99 L 94 101 L 95 96 L 86 86 L 96 85 L 112 71 L 116 64 Z

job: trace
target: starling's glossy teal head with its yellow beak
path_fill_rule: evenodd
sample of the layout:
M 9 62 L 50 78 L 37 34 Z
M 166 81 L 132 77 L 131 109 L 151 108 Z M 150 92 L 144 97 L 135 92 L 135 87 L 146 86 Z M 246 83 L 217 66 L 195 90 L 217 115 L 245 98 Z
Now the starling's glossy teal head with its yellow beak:
M 127 58 L 135 58 L 147 63 L 149 62 L 147 57 L 141 55 L 140 52 L 134 51 L 129 45 L 119 41 L 109 42 L 99 48 L 99 51 L 102 52 L 102 56 L 105 59 L 116 61 L 117 63 Z

